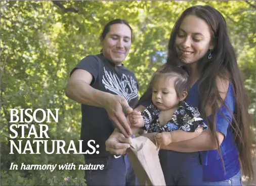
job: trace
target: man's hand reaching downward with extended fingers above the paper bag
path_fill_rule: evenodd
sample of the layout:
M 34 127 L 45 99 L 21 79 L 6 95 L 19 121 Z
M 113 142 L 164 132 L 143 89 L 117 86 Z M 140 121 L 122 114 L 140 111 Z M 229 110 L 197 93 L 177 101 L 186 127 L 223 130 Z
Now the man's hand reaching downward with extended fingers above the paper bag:
M 108 113 L 108 117 L 113 121 L 115 127 L 125 136 L 130 137 L 132 130 L 127 122 L 124 112 L 130 114 L 133 109 L 129 106 L 125 98 L 118 95 L 110 95 L 106 98 L 104 108 Z

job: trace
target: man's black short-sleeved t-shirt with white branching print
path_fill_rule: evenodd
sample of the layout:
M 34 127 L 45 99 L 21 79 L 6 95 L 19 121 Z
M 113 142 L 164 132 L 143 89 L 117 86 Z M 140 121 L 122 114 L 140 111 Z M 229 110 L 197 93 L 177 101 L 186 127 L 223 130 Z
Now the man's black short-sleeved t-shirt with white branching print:
M 97 57 L 98 58 L 97 58 Z M 83 58 L 70 75 L 76 69 L 84 69 L 93 75 L 91 86 L 114 95 L 124 97 L 131 107 L 138 102 L 138 81 L 134 73 L 124 65 L 116 66 L 107 60 L 103 54 L 87 56 Z M 87 158 L 112 156 L 106 151 L 105 142 L 114 130 L 114 125 L 109 119 L 104 108 L 81 104 L 82 124 L 80 138 L 83 140 L 82 152 L 92 149 L 88 147 L 88 141 L 95 140 L 99 145 L 96 151 L 99 154 L 85 154 Z M 96 144 L 94 147 L 96 147 Z M 92 144 L 93 145 L 93 144 Z

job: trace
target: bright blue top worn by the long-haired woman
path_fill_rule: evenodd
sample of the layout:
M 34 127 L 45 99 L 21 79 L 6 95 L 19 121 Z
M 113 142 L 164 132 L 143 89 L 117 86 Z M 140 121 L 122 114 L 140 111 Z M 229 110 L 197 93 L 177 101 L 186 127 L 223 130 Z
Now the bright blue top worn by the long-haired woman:
M 189 105 L 198 107 L 200 110 L 198 81 L 191 87 L 185 101 Z M 225 108 L 225 106 L 221 106 L 220 109 L 224 116 L 230 122 L 232 122 L 232 115 L 235 110 L 235 99 L 231 84 L 229 84 L 225 104 L 229 108 L 231 114 L 229 110 Z M 144 102 L 142 105 L 149 105 L 149 102 Z M 220 111 L 217 113 L 217 130 L 224 134 L 224 140 L 220 146 L 220 149 L 226 173 L 224 171 L 223 162 L 218 150 L 200 151 L 199 153 L 203 165 L 203 181 L 223 181 L 233 177 L 240 170 L 238 149 L 234 141 L 235 137 L 233 134 L 233 129 L 224 116 L 220 113 Z M 211 116 L 209 116 L 209 119 L 210 118 Z

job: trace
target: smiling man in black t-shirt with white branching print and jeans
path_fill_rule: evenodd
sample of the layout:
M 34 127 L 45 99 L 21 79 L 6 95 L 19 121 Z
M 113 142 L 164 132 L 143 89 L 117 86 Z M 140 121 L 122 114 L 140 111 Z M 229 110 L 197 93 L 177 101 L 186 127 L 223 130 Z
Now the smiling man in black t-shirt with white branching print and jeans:
M 85 154 L 86 164 L 103 164 L 104 170 L 86 170 L 88 185 L 137 185 L 127 155 L 116 158 L 106 151 L 105 142 L 116 127 L 131 135 L 123 111 L 131 113 L 138 101 L 138 81 L 123 64 L 130 51 L 133 30 L 125 20 L 110 21 L 101 34 L 102 54 L 83 58 L 71 71 L 66 96 L 81 103 L 82 151 L 95 140 L 96 153 Z M 115 126 L 115 127 L 114 127 Z M 129 142 L 129 138 L 124 138 Z M 99 151 L 97 153 L 97 151 Z

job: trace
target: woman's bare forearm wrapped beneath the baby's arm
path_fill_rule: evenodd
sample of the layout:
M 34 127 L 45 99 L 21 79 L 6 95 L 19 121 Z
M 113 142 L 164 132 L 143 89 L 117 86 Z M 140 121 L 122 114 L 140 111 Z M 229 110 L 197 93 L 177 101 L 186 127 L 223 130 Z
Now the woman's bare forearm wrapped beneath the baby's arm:
M 224 139 L 224 135 L 217 132 L 220 144 Z M 182 142 L 170 143 L 167 146 L 161 146 L 161 149 L 177 151 L 182 153 L 198 152 L 198 151 L 208 151 L 216 150 L 217 144 L 214 143 L 214 138 L 212 137 L 209 130 L 203 131 L 199 136 Z

